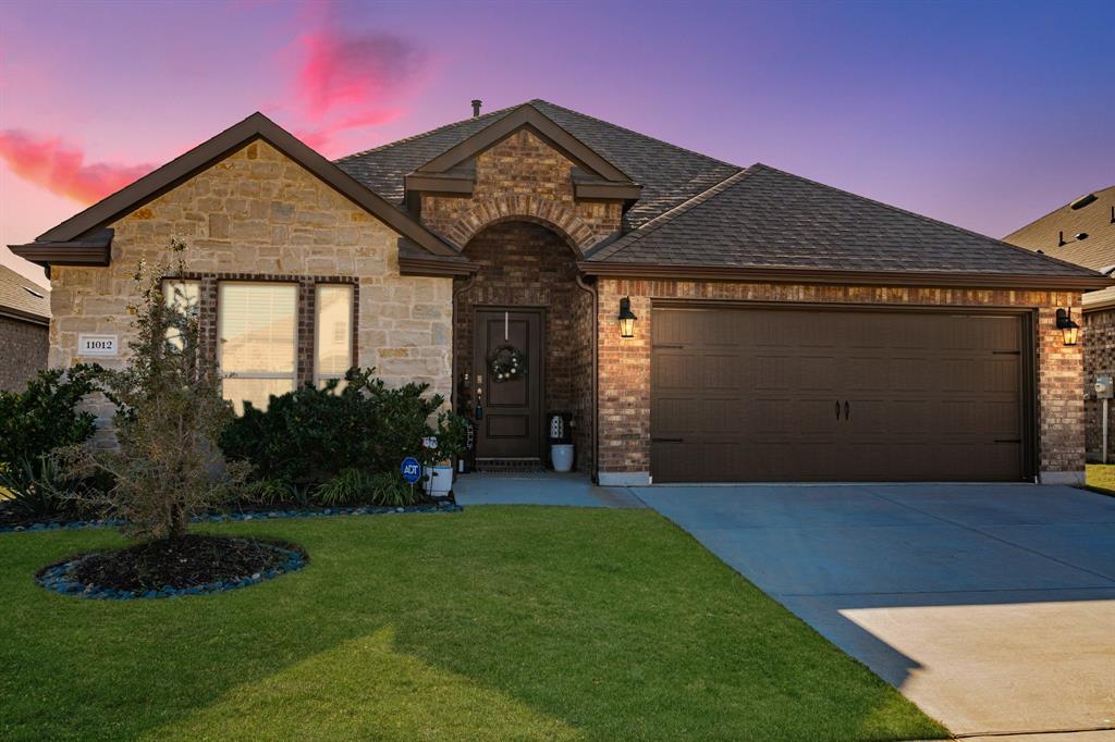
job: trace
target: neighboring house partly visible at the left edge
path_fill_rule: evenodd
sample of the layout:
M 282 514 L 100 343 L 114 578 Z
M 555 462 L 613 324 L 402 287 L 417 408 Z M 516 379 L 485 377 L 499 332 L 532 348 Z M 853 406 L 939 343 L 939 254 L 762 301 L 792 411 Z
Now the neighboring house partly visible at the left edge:
M 0 390 L 20 391 L 47 368 L 50 292 L 0 265 Z

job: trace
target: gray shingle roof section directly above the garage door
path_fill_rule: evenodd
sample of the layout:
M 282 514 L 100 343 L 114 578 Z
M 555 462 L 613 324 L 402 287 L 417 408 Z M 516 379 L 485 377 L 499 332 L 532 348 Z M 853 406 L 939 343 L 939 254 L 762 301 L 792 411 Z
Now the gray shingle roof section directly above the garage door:
M 1094 276 L 960 227 L 753 165 L 589 261 Z

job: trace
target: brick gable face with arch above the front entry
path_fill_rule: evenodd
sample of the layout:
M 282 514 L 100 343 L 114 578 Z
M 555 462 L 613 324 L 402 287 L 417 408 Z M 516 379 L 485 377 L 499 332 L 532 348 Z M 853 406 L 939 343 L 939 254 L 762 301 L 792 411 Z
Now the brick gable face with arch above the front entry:
M 508 219 L 537 222 L 582 252 L 615 233 L 623 217 L 615 201 L 575 201 L 576 165 L 527 129 L 475 158 L 471 197 L 424 195 L 423 224 L 459 246 L 485 226 Z

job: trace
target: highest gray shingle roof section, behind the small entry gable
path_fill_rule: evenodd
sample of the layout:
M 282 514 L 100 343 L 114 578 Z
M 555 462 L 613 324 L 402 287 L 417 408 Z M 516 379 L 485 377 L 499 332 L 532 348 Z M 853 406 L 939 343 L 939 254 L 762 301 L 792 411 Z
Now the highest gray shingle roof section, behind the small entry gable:
M 530 105 L 642 185 L 642 196 L 626 215 L 634 228 L 719 183 L 738 165 L 723 163 L 545 100 Z M 460 144 L 518 106 L 400 139 L 337 160 L 337 165 L 401 207 L 404 176 Z

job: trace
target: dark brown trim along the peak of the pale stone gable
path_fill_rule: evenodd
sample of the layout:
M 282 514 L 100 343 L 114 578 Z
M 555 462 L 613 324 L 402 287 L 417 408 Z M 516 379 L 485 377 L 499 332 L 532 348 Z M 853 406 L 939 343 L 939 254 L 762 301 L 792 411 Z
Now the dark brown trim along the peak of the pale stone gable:
M 326 185 L 429 253 L 445 256 L 458 254 L 429 230 L 259 111 L 45 232 L 36 243 L 68 243 L 103 228 L 258 139 L 263 139 Z

